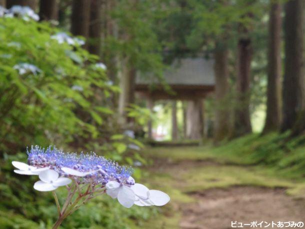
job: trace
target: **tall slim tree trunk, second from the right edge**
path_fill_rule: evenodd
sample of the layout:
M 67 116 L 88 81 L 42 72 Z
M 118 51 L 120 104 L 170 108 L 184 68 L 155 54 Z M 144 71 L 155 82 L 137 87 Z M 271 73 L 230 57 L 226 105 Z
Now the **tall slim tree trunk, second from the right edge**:
M 281 5 L 272 3 L 269 15 L 267 112 L 264 133 L 277 130 L 280 124 L 280 31 Z

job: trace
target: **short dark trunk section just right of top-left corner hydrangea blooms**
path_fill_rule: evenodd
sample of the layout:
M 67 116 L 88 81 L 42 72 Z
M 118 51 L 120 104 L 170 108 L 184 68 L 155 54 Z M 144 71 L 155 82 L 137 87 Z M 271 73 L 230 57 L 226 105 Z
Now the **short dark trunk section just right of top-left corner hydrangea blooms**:
M 40 0 L 40 20 L 58 20 L 58 1 Z

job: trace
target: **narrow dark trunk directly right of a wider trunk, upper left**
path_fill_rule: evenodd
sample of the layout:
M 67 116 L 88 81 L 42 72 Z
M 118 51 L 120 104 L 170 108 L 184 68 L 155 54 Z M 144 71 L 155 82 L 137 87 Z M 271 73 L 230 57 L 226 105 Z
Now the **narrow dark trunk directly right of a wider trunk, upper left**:
M 88 50 L 100 56 L 101 42 L 101 0 L 91 0 Z

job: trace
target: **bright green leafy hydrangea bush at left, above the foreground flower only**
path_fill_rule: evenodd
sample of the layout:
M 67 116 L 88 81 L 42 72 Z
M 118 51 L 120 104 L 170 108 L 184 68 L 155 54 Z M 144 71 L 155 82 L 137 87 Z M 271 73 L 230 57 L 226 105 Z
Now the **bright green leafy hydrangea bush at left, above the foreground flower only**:
M 1 149 L 98 135 L 105 108 L 91 102 L 94 88 L 102 88 L 103 96 L 115 88 L 95 66 L 96 56 L 58 42 L 51 37 L 56 32 L 48 23 L 0 18 Z M 38 70 L 16 69 L 24 63 Z

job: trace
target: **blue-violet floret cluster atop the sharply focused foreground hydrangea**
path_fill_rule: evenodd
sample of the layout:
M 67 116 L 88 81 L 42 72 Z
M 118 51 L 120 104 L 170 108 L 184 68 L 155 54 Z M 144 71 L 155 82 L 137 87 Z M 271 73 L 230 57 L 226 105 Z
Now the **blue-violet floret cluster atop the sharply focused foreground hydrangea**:
M 35 167 L 49 167 L 59 173 L 59 176 L 72 177 L 78 183 L 92 183 L 105 185 L 108 181 L 133 185 L 128 177 L 132 173 L 131 167 L 120 166 L 118 163 L 98 156 L 94 152 L 74 153 L 63 152 L 56 147 L 42 148 L 31 146 L 28 150 L 27 163 Z M 62 167 L 75 169 L 79 172 L 89 172 L 84 177 L 72 176 L 61 170 Z

